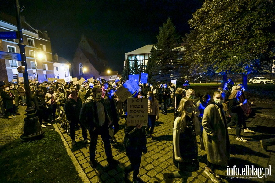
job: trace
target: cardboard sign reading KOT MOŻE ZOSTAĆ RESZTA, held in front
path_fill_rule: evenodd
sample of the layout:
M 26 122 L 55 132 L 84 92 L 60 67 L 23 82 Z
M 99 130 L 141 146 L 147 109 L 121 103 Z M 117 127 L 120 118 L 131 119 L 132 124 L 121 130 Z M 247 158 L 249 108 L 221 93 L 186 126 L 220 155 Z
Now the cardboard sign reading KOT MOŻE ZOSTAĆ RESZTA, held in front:
M 127 126 L 147 125 L 148 98 L 127 99 Z

